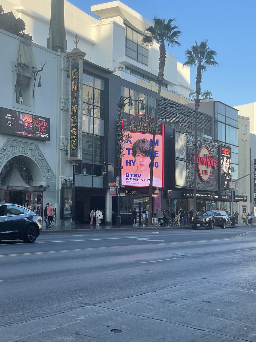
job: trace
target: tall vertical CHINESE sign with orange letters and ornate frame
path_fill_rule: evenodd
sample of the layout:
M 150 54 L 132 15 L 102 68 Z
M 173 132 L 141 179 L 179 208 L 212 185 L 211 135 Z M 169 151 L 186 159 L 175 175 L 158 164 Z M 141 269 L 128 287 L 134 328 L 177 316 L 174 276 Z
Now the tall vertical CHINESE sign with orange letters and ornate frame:
M 68 53 L 70 67 L 70 127 L 68 162 L 77 165 L 82 161 L 83 132 L 83 73 L 86 53 L 75 48 Z

